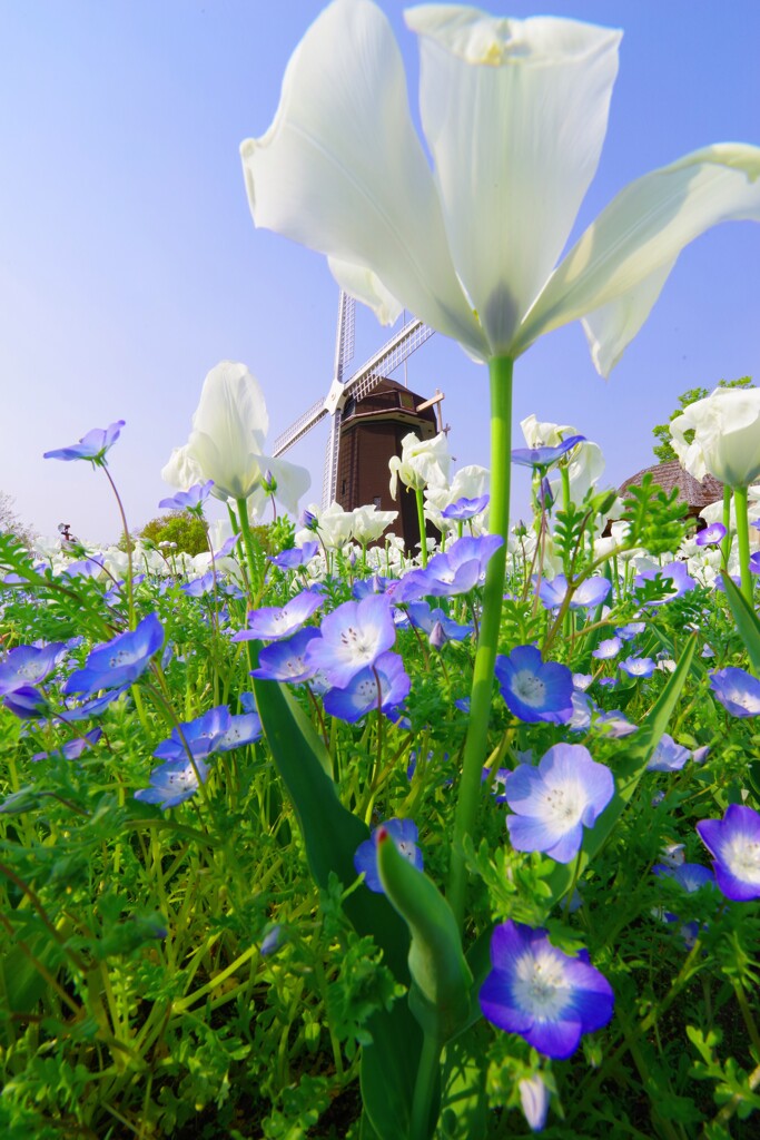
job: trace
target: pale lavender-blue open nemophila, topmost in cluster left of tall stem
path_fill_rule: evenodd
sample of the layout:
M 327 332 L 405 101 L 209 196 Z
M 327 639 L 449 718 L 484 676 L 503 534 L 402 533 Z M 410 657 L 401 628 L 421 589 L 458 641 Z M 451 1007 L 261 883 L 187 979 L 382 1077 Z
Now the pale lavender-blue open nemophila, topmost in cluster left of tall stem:
M 345 689 L 395 641 L 387 594 L 344 602 L 322 619 L 320 634 L 307 648 L 307 665 L 321 669 L 329 684 Z

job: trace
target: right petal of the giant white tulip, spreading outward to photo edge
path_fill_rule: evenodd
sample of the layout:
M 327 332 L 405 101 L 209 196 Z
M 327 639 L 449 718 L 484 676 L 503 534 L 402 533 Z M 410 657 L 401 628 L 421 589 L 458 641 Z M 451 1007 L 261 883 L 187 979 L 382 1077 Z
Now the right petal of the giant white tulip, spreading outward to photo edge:
M 760 220 L 760 147 L 717 144 L 631 182 L 551 275 L 516 355 L 542 333 L 591 314 L 595 363 L 611 367 L 684 246 L 721 221 L 739 220 Z

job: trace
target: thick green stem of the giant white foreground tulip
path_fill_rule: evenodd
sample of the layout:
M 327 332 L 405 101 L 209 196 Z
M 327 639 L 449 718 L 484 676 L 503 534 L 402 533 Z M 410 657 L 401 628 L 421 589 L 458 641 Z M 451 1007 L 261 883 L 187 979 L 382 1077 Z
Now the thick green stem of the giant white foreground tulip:
M 459 927 L 464 922 L 466 889 L 463 844 L 465 838 L 473 832 L 481 800 L 481 773 L 488 747 L 493 666 L 499 644 L 504 578 L 507 564 L 513 364 L 512 357 L 492 357 L 489 361 L 491 384 L 491 510 L 489 529 L 492 535 L 500 535 L 504 538 L 504 545 L 491 557 L 485 575 L 483 616 L 469 702 L 469 728 L 465 741 L 459 796 L 453 821 L 448 899 Z

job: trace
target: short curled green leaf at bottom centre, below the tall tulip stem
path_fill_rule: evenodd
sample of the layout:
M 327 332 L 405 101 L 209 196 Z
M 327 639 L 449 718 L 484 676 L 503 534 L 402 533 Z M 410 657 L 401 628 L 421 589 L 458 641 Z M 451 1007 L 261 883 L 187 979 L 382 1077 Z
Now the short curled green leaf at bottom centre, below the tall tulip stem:
M 381 882 L 411 935 L 409 1008 L 426 1036 L 449 1041 L 469 1015 L 473 976 L 451 907 L 432 879 L 399 853 L 384 829 L 377 839 Z

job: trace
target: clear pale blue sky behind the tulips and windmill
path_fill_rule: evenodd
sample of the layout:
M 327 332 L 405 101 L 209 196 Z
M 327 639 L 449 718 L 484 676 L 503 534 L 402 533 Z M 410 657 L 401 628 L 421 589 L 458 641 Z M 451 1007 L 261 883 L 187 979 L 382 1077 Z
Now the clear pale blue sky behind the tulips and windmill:
M 111 469 L 132 528 L 170 494 L 206 372 L 248 365 L 270 440 L 329 385 L 337 286 L 324 259 L 252 223 L 238 146 L 269 127 L 318 0 L 0 0 L 0 489 L 41 534 L 115 540 L 89 464 L 42 459 L 96 426 L 126 426 Z M 384 0 L 417 99 L 403 5 Z M 760 144 L 758 0 L 495 0 L 504 15 L 624 30 L 607 141 L 577 233 L 628 181 L 700 146 Z M 475 220 L 476 223 L 476 220 Z M 530 223 L 530 219 L 526 219 Z M 653 424 L 687 388 L 760 383 L 760 227 L 732 223 L 681 255 L 638 337 L 600 380 L 578 324 L 516 367 L 517 422 L 573 424 L 611 484 L 654 462 Z M 366 310 L 357 357 L 389 335 Z M 409 385 L 446 392 L 458 465 L 488 464 L 483 368 L 434 336 Z M 326 429 L 289 457 L 318 500 Z M 522 479 L 522 477 L 521 477 Z M 517 481 L 514 513 L 524 511 Z

